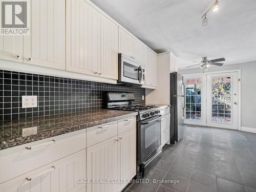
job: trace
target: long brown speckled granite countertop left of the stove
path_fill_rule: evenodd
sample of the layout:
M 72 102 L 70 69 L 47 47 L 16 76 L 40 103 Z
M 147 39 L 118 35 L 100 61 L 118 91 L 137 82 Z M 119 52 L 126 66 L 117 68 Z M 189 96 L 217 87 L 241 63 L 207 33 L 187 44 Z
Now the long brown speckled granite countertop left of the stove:
M 137 114 L 137 112 L 131 111 L 101 109 L 0 121 L 0 150 L 86 129 Z M 22 129 L 33 126 L 37 126 L 37 134 L 23 137 Z

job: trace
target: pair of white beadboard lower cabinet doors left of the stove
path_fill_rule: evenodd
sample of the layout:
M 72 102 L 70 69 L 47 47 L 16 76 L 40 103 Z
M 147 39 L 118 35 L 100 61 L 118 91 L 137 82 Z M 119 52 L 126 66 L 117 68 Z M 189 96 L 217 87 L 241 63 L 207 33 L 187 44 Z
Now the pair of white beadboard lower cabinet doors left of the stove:
M 136 175 L 136 129 L 87 148 L 87 191 L 121 191 Z

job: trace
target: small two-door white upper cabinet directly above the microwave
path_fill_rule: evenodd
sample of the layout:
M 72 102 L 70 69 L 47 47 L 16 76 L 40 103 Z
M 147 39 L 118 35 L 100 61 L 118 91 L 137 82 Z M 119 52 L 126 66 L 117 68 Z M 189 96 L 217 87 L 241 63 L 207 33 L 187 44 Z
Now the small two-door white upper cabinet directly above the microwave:
M 130 56 L 137 61 L 143 62 L 143 44 L 138 39 L 119 27 L 119 53 Z

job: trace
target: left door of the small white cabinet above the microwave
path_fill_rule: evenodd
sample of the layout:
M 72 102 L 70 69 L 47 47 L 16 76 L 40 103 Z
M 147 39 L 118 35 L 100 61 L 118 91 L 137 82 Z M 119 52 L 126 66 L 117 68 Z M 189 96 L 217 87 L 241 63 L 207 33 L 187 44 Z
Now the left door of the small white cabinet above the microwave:
M 133 36 L 119 27 L 118 52 L 133 57 Z

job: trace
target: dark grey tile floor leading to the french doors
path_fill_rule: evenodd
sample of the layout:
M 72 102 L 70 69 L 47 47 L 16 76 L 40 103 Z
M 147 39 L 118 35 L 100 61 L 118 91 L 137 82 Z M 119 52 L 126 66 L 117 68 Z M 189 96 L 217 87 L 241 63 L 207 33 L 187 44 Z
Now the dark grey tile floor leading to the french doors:
M 164 147 L 145 178 L 150 183 L 124 191 L 256 192 L 256 134 L 185 126 L 181 141 Z M 179 183 L 154 182 L 162 179 Z

